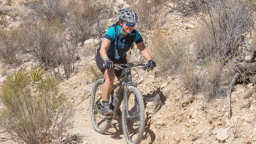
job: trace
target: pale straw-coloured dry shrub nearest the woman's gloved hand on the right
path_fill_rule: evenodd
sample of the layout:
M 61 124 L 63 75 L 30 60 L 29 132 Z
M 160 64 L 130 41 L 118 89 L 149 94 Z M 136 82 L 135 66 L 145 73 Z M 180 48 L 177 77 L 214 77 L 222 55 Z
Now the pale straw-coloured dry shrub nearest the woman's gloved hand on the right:
M 157 67 L 162 71 L 176 73 L 186 57 L 186 47 L 188 40 L 182 36 L 169 38 L 167 30 L 155 30 L 150 38 L 151 55 L 157 63 Z

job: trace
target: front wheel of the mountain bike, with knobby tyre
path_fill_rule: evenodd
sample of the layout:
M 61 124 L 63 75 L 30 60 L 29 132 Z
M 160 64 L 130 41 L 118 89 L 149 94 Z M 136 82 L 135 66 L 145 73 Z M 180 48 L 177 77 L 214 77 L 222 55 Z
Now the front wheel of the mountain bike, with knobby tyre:
M 127 92 L 128 100 L 123 102 L 122 126 L 124 137 L 129 144 L 139 144 L 143 137 L 145 115 L 140 91 L 131 87 Z M 126 109 L 124 105 L 127 105 Z M 128 112 L 129 117 L 126 112 Z

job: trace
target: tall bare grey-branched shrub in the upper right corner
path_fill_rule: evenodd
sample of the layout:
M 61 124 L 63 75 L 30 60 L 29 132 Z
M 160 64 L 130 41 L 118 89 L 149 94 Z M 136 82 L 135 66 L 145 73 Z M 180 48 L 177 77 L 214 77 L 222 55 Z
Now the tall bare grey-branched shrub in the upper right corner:
M 181 15 L 196 14 L 200 18 L 212 37 L 214 54 L 222 60 L 236 55 L 239 49 L 234 47 L 244 41 L 255 25 L 254 10 L 248 1 L 175 0 L 175 4 L 174 9 Z

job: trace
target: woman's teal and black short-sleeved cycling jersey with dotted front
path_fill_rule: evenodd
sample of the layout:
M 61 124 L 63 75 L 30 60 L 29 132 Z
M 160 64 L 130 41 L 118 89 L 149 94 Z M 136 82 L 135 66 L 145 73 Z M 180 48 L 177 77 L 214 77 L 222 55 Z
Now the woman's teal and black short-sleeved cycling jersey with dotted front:
M 112 41 L 108 50 L 107 50 L 107 55 L 109 59 L 115 59 L 115 28 L 110 27 L 105 34 L 104 38 Z M 142 36 L 140 33 L 135 30 L 135 43 L 140 43 L 142 42 Z M 132 33 L 129 33 L 126 37 L 122 35 L 121 33 L 121 26 L 117 26 L 117 44 L 116 44 L 116 49 L 118 52 L 118 56 L 120 56 L 120 59 L 125 59 L 126 58 L 126 52 L 128 52 L 133 44 L 132 41 Z M 100 48 L 99 48 L 100 49 Z

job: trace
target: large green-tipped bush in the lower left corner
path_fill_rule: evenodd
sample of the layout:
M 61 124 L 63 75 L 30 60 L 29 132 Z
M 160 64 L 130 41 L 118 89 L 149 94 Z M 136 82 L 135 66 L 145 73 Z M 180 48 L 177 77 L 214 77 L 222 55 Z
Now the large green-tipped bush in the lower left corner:
M 49 143 L 70 126 L 71 107 L 53 77 L 34 83 L 20 70 L 6 78 L 0 100 L 1 126 L 18 143 Z

